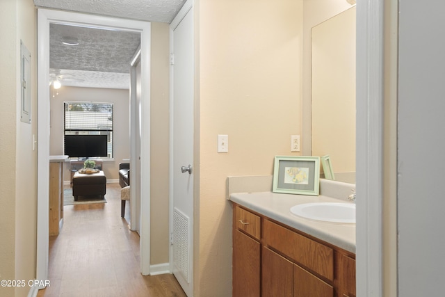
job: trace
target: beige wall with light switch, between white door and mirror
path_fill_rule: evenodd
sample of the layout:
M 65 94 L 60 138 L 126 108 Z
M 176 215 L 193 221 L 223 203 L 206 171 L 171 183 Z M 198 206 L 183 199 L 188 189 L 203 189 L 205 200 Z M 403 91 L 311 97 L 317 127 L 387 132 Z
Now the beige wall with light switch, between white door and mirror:
M 301 134 L 302 1 L 201 0 L 198 17 L 200 259 L 195 295 L 230 296 L 232 204 L 225 200 L 225 182 L 229 175 L 272 174 L 274 156 L 291 155 L 291 134 Z M 228 134 L 229 153 L 217 153 L 218 134 Z

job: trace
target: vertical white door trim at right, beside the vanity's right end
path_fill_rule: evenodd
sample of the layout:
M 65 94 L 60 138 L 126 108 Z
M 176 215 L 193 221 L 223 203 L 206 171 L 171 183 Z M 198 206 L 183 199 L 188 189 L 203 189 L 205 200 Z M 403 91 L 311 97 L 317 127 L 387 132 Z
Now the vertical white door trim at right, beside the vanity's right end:
M 384 0 L 357 1 L 357 296 L 382 296 Z

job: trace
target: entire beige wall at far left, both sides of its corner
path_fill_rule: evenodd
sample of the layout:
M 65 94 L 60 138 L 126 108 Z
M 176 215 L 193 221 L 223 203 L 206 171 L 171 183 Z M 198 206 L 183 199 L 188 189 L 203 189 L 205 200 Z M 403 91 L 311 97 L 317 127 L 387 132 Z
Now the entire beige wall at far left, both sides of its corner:
M 37 154 L 36 13 L 32 0 L 0 4 L 0 279 L 35 278 Z M 20 40 L 31 53 L 31 124 L 20 122 Z M 0 296 L 26 296 L 29 287 L 0 287 Z

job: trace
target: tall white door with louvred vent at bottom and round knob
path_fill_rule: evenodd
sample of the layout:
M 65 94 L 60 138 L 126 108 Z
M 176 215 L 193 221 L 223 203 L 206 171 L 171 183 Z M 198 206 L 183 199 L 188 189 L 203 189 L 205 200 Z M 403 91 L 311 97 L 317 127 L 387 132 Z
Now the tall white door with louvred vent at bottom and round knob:
M 178 17 L 171 28 L 171 259 L 179 284 L 193 296 L 193 12 L 189 7 Z

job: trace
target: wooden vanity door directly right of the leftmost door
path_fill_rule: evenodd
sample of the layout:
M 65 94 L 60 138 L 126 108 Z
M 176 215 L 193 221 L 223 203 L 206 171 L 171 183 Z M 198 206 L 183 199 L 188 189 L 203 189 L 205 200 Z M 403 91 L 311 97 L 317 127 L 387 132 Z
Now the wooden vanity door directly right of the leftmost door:
M 262 296 L 293 296 L 293 263 L 263 247 Z

